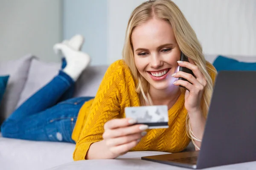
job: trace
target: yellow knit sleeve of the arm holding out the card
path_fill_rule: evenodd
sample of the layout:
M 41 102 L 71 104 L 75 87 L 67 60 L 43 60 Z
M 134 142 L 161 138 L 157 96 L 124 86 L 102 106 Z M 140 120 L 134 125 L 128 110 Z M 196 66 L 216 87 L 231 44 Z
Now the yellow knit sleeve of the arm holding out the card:
M 76 143 L 73 153 L 75 161 L 85 159 L 90 145 L 102 140 L 105 122 L 119 117 L 120 94 L 125 90 L 122 68 L 122 60 L 118 60 L 106 71 Z

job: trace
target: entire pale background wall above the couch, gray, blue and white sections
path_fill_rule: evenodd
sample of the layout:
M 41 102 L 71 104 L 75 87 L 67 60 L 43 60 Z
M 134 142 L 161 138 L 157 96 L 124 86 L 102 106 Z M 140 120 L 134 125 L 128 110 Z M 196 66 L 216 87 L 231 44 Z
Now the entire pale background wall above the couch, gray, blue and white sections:
M 52 45 L 83 34 L 82 51 L 90 54 L 92 65 L 110 64 L 122 58 L 129 16 L 144 1 L 0 0 L 0 61 L 27 53 L 59 61 Z M 256 56 L 256 0 L 174 2 L 195 29 L 204 53 Z

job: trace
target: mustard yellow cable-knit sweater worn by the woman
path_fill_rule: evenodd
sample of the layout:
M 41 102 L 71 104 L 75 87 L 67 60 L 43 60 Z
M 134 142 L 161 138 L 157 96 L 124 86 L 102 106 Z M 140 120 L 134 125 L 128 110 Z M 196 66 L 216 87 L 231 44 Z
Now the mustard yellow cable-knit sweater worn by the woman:
M 214 69 L 213 66 L 212 68 Z M 214 80 L 215 74 L 209 74 Z M 75 161 L 85 159 L 90 145 L 102 140 L 105 122 L 124 118 L 125 107 L 140 106 L 135 89 L 136 81 L 124 61 L 114 62 L 106 71 L 95 98 L 85 102 L 79 111 L 72 134 L 72 139 L 77 142 L 73 153 Z M 186 148 L 190 139 L 186 134 L 187 111 L 184 107 L 184 94 L 180 94 L 168 112 L 169 128 L 146 130 L 146 136 L 131 151 L 155 150 L 175 153 Z

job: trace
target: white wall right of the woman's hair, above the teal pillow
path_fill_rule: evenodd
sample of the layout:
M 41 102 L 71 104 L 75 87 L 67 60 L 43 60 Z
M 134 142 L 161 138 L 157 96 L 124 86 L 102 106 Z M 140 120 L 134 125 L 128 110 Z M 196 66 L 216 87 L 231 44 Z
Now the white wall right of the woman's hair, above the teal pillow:
M 174 2 L 194 28 L 205 53 L 256 56 L 256 0 Z

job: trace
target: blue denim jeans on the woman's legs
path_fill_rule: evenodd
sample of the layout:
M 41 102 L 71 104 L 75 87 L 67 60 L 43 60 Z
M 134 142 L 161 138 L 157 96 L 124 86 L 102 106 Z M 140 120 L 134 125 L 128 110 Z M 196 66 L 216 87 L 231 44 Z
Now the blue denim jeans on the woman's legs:
M 63 59 L 62 68 L 66 66 Z M 71 142 L 84 102 L 93 97 L 71 98 L 74 84 L 63 71 L 17 108 L 1 126 L 3 137 L 36 141 Z

